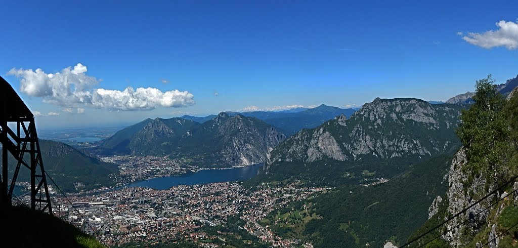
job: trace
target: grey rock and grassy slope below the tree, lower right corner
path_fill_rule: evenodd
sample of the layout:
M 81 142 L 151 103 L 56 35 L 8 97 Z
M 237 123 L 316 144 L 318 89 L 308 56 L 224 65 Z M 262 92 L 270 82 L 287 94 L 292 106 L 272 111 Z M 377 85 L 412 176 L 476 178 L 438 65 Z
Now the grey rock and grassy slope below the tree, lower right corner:
M 431 227 L 447 221 L 450 217 L 462 212 L 441 228 L 416 240 L 411 247 L 418 247 L 430 241 L 433 247 L 514 247 L 518 221 L 518 182 L 503 187 L 500 191 L 489 195 L 476 203 L 488 193 L 498 188 L 497 179 L 486 177 L 469 177 L 464 165 L 467 163 L 465 149 L 455 155 L 450 171 L 447 173 L 449 189 L 444 199 L 434 201 L 429 209 L 429 220 L 413 235 L 430 230 Z M 510 194 L 510 192 L 513 194 Z M 439 199 L 440 197 L 436 198 Z M 474 204 L 476 203 L 476 204 Z M 471 208 L 469 208 L 473 205 Z M 511 228 L 511 229 L 509 229 Z M 410 239 L 412 239 L 411 237 Z M 435 238 L 435 240 L 434 240 Z M 426 246 L 428 247 L 428 246 Z

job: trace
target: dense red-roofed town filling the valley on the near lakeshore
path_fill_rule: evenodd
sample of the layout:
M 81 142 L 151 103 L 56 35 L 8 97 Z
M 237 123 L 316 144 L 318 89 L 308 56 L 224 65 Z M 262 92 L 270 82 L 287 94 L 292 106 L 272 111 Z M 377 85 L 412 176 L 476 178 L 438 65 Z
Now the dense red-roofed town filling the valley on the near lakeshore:
M 92 235 L 107 245 L 128 242 L 152 244 L 171 240 L 211 244 L 200 227 L 224 225 L 229 216 L 238 215 L 250 234 L 275 246 L 289 247 L 258 224 L 269 212 L 289 202 L 307 198 L 325 188 L 306 188 L 296 184 L 283 187 L 263 184 L 248 191 L 239 183 L 180 185 L 159 191 L 150 188 L 120 188 L 90 196 L 55 198 L 55 215 Z M 94 233 L 95 231 L 95 233 Z

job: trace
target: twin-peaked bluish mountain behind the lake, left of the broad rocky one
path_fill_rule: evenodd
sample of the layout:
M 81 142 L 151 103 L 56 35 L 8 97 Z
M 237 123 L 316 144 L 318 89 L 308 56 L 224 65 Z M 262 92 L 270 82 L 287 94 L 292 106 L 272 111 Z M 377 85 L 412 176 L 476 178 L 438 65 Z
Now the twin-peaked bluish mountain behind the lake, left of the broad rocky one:
M 284 139 L 259 119 L 221 112 L 204 123 L 147 119 L 106 139 L 100 153 L 167 155 L 202 167 L 242 166 L 268 161 L 271 150 Z

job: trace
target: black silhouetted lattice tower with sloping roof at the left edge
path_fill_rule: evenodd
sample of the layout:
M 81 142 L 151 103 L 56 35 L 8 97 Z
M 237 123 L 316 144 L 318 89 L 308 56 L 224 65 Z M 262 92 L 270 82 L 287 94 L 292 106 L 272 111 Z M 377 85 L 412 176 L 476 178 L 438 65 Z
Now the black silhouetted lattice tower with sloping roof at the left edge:
M 52 214 L 34 115 L 2 77 L 0 77 L 0 103 L 2 104 L 0 108 L 0 143 L 2 144 L 0 205 L 12 205 L 13 191 L 20 169 L 28 169 L 31 180 L 31 209 L 48 211 Z M 10 126 L 16 126 L 16 133 Z M 16 163 L 9 163 L 10 159 Z M 14 166 L 14 170 L 9 170 L 9 166 Z M 12 178 L 9 184 L 8 175 L 11 171 Z

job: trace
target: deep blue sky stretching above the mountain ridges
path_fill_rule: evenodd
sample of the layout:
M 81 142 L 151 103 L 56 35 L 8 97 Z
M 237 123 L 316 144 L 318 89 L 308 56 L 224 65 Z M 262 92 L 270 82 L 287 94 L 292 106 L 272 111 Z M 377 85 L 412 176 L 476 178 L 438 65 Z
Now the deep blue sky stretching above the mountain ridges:
M 22 2 L 2 4 L 0 75 L 41 127 L 445 100 L 487 74 L 499 83 L 518 74 L 516 47 L 495 41 L 518 40 L 516 1 Z M 37 68 L 63 77 L 33 82 L 25 70 Z M 160 93 L 128 106 L 128 86 L 132 97 Z

